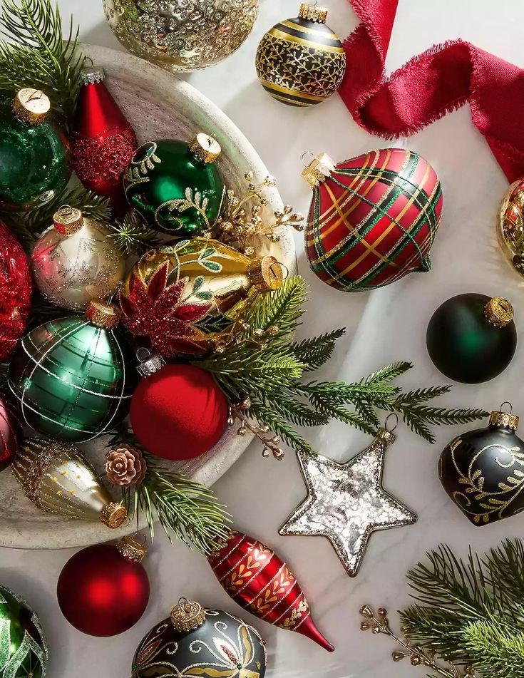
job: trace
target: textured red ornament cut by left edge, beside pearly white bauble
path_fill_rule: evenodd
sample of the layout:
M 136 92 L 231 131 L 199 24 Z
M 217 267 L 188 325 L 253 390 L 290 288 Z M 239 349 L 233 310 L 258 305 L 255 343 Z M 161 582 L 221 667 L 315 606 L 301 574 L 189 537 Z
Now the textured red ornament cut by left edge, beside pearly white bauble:
M 0 360 L 9 356 L 24 334 L 32 290 L 26 253 L 0 222 Z

